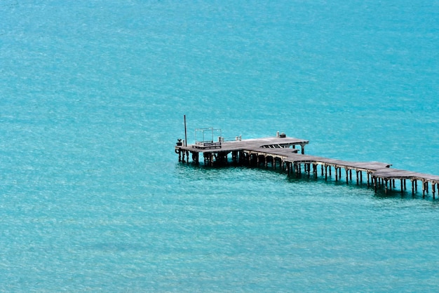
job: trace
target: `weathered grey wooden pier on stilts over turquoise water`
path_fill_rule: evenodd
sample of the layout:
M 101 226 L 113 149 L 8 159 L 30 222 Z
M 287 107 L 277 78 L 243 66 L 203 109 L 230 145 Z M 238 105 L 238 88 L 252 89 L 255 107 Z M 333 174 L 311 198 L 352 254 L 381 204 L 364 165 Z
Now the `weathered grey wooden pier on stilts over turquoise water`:
M 422 195 L 425 196 L 429 190 L 435 198 L 435 192 L 439 192 L 439 176 L 411 172 L 407 170 L 392 169 L 389 163 L 379 162 L 353 162 L 323 158 L 319 156 L 309 156 L 305 154 L 305 146 L 309 144 L 306 139 L 286 137 L 286 135 L 276 135 L 276 137 L 266 137 L 261 139 L 244 139 L 236 137 L 234 141 L 224 142 L 219 137 L 218 142 L 196 142 L 196 144 L 185 145 L 184 142 L 177 142 L 175 153 L 179 156 L 179 161 L 189 163 L 191 161 L 199 163 L 200 154 L 203 154 L 205 165 L 215 165 L 227 163 L 228 156 L 231 160 L 242 165 L 260 167 L 264 165 L 271 168 L 287 172 L 288 175 L 301 175 L 302 170 L 308 175 L 320 175 L 332 177 L 335 181 L 345 177 L 346 184 L 352 182 L 352 174 L 355 172 L 356 184 L 363 183 L 363 173 L 367 178 L 367 186 L 372 186 L 374 191 L 384 189 L 396 189 L 396 181 L 400 181 L 400 192 L 407 190 L 407 180 L 412 184 L 412 194 L 418 190 L 418 182 L 421 183 Z M 344 170 L 344 172 L 342 172 Z M 342 176 L 343 175 L 343 176 Z

